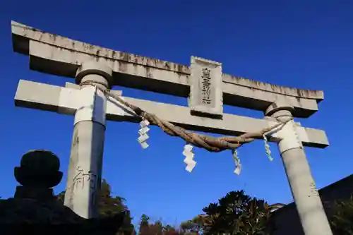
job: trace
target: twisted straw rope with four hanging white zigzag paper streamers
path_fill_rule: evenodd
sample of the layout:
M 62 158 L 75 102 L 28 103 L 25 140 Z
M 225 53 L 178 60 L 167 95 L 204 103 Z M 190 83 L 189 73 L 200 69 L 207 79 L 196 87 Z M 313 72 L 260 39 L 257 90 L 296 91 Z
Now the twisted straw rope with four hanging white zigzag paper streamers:
M 86 83 L 95 86 L 94 83 L 91 84 L 91 81 L 86 81 Z M 132 109 L 136 116 L 140 116 L 140 118 L 143 119 L 143 121 L 140 122 L 140 138 L 138 138 L 138 142 L 143 148 L 148 147 L 148 144 L 145 141 L 149 138 L 149 136 L 147 135 L 149 128 L 147 126 L 150 123 L 152 125 L 159 126 L 164 131 L 164 133 L 167 133 L 168 135 L 178 136 L 179 138 L 186 140 L 186 143 L 191 143 L 191 147 L 186 147 L 186 145 L 186 148 L 184 147 L 183 152 L 183 154 L 186 156 L 186 159 L 184 159 L 184 162 L 187 164 L 186 170 L 189 172 L 191 172 L 196 165 L 196 162 L 193 161 L 194 154 L 192 152 L 193 146 L 196 146 L 202 147 L 205 150 L 208 150 L 209 152 L 222 152 L 224 150 L 229 149 L 232 150 L 233 159 L 236 164 L 236 169 L 234 170 L 234 173 L 239 175 L 241 172 L 241 163 L 239 157 L 237 156 L 236 149 L 246 143 L 253 142 L 253 140 L 255 140 L 256 138 L 261 138 L 261 136 L 265 141 L 266 155 L 268 155 L 268 159 L 270 159 L 270 161 L 273 161 L 273 157 L 271 157 L 270 146 L 268 145 L 268 140 L 265 137 L 265 134 L 270 132 L 276 132 L 278 131 L 278 129 L 281 129 L 283 126 L 285 126 L 287 122 L 293 120 L 292 117 L 285 121 L 280 121 L 279 119 L 276 119 L 276 121 L 280 123 L 276 123 L 275 125 L 270 126 L 268 128 L 264 128 L 263 130 L 258 131 L 256 133 L 244 133 L 237 137 L 215 138 L 210 135 L 201 135 L 191 131 L 186 131 L 184 128 L 174 126 L 174 124 L 169 123 L 169 121 L 161 120 L 154 114 L 150 114 L 148 112 L 145 112 L 143 109 L 134 106 L 133 104 L 129 104 L 124 99 L 119 97 L 119 95 L 115 95 L 114 93 L 110 92 L 110 90 L 102 91 L 104 92 L 104 95 L 106 95 L 107 97 L 112 97 L 114 98 L 114 100 L 118 101 L 129 109 Z

